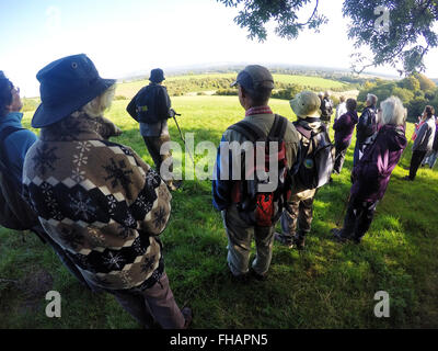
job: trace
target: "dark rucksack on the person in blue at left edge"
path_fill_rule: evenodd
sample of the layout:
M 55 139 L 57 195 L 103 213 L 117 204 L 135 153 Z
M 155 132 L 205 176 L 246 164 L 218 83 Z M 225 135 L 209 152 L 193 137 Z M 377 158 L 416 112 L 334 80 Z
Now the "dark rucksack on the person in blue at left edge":
M 15 230 L 32 229 L 39 224 L 37 215 L 22 197 L 22 184 L 11 176 L 4 152 L 5 138 L 22 129 L 9 126 L 0 133 L 0 225 Z

